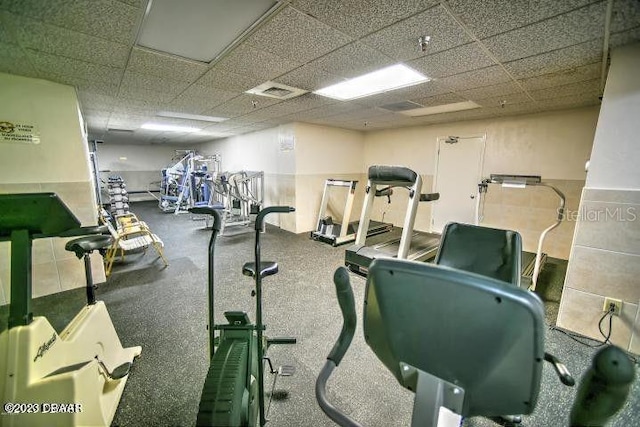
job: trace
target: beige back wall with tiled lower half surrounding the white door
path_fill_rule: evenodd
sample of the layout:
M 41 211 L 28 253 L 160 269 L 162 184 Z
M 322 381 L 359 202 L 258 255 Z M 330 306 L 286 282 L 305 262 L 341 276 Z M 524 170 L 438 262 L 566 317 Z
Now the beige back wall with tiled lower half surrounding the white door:
M 516 117 L 421 126 L 370 132 L 365 135 L 365 164 L 408 166 L 423 175 L 422 192 L 433 190 L 437 141 L 448 135 L 486 135 L 483 176 L 491 173 L 541 175 L 558 186 L 574 212 L 584 186 L 584 164 L 589 158 L 598 108 L 583 108 Z M 391 206 L 376 203 L 376 215 L 401 225 L 406 196 Z M 435 202 L 437 203 L 437 202 Z M 431 204 L 420 206 L 416 228 L 430 229 Z M 534 251 L 540 232 L 554 222 L 559 199 L 552 190 L 527 188 L 506 191 L 491 185 L 483 224 L 518 230 L 526 250 Z M 380 219 L 380 218 L 376 218 Z M 566 221 L 549 233 L 544 250 L 567 259 L 574 222 Z

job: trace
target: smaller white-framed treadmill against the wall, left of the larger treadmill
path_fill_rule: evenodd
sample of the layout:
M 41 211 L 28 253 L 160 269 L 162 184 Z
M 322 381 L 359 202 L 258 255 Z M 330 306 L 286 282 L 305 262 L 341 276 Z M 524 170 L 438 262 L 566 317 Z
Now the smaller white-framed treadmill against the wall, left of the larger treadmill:
M 357 184 L 358 181 L 340 179 L 327 179 L 325 181 L 324 191 L 322 193 L 322 202 L 320 203 L 320 212 L 318 213 L 318 226 L 316 230 L 312 231 L 310 234 L 310 237 L 313 240 L 329 243 L 333 246 L 342 245 L 356 240 L 356 231 L 358 230 L 359 222 L 349 222 L 349 219 L 351 218 L 351 210 L 353 208 L 353 199 Z M 326 216 L 330 189 L 336 187 L 348 189 L 347 199 L 342 214 L 342 223 L 333 222 L 333 218 Z M 345 223 L 346 226 L 344 226 Z M 367 228 L 367 237 L 386 233 L 392 228 L 393 224 L 372 220 L 369 222 L 369 226 Z

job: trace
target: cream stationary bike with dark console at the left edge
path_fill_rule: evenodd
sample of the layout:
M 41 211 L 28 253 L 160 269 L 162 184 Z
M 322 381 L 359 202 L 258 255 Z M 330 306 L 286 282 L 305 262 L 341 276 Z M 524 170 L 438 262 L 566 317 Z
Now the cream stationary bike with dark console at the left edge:
M 104 303 L 95 299 L 89 255 L 111 238 L 96 234 L 100 227 L 80 227 L 54 193 L 0 195 L 0 212 L 0 240 L 11 242 L 9 328 L 0 333 L 0 425 L 110 425 L 142 350 L 122 347 Z M 30 308 L 31 249 L 44 237 L 77 237 L 65 248 L 85 264 L 87 305 L 60 334 Z

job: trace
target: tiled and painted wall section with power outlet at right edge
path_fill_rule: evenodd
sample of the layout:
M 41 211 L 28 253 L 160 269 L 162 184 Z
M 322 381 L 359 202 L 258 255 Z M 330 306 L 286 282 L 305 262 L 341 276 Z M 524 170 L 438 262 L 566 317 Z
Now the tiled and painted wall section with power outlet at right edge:
M 639 69 L 640 44 L 612 52 L 557 322 L 603 339 L 598 321 L 605 297 L 620 299 L 622 313 L 613 318 L 611 340 L 636 354 L 640 354 Z

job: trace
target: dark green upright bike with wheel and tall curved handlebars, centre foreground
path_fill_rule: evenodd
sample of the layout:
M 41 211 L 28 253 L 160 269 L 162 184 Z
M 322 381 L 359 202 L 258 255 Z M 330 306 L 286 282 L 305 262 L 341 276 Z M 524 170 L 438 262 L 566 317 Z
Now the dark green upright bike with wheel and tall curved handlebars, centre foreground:
M 255 220 L 255 259 L 242 267 L 245 276 L 253 277 L 256 297 L 256 323 L 252 324 L 243 311 L 225 311 L 227 324 L 216 325 L 214 319 L 214 251 L 222 228 L 218 210 L 209 207 L 189 209 L 195 214 L 213 216 L 213 231 L 209 240 L 208 304 L 209 354 L 211 363 L 202 389 L 196 424 L 198 426 L 263 426 L 267 422 L 264 396 L 264 368 L 268 363 L 274 375 L 272 393 L 279 376 L 293 375 L 292 366 L 273 368 L 266 357 L 272 344 L 295 344 L 295 338 L 267 338 L 263 335 L 262 279 L 278 272 L 278 264 L 260 260 L 260 233 L 264 218 L 274 212 L 293 212 L 289 206 L 272 206 L 261 210 Z M 216 331 L 219 336 L 216 337 Z M 217 347 L 217 348 L 216 348 Z M 269 402 L 270 403 L 270 402 Z

